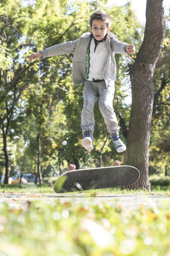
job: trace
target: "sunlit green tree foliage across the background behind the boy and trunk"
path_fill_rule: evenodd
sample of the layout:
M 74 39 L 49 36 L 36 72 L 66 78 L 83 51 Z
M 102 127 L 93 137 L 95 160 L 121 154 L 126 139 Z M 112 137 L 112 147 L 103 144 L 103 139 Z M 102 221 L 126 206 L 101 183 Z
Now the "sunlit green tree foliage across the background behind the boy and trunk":
M 0 26 L 3 28 L 1 29 L 3 40 L 0 46 L 0 68 L 2 69 L 0 117 L 8 117 L 9 127 L 7 118 L 3 122 L 3 125 L 9 128 L 8 145 L 9 141 L 13 143 L 14 165 L 18 165 L 21 169 L 24 163 L 24 172 L 34 173 L 37 170 L 37 134 L 40 135 L 41 140 L 43 176 L 48 176 L 49 171 L 50 175 L 59 174 L 61 168 L 66 171 L 71 162 L 80 168 L 96 167 L 99 165 L 100 153 L 102 153 L 103 166 L 113 165 L 117 159 L 123 164 L 124 153 L 117 154 L 108 132 L 99 129 L 105 123 L 99 112 L 98 102 L 94 108 L 98 127 L 94 132 L 94 150 L 87 152 L 81 146 L 80 117 L 83 107 L 83 84 L 77 86 L 72 84 L 73 54 L 35 60 L 33 63 L 28 61 L 28 56 L 32 52 L 76 40 L 82 33 L 89 31 L 89 17 L 97 9 L 109 12 L 112 18 L 111 32 L 116 34 L 119 40 L 133 43 L 138 51 L 142 41 L 143 27 L 133 13 L 130 2 L 125 6 L 113 4 L 108 6 L 108 2 L 104 0 L 1 1 Z M 169 49 L 168 38 L 167 30 L 162 54 Z M 130 104 L 126 99 L 131 93 L 127 65 L 135 57 L 115 55 L 117 79 L 113 106 L 116 113 L 118 111 L 122 113 L 127 124 Z M 168 76 L 168 68 L 166 72 L 165 67 L 161 67 L 158 71 L 155 74 L 155 81 L 157 81 L 155 88 L 160 85 L 163 72 L 166 77 Z M 160 167 L 161 159 L 165 155 L 168 157 L 169 154 L 167 147 L 163 147 L 165 140 L 168 140 L 168 133 L 162 133 L 161 145 L 158 137 L 163 128 L 169 129 L 168 124 L 164 126 L 169 113 L 168 106 L 164 104 L 167 95 L 168 90 L 165 89 L 161 95 L 163 104 L 161 101 L 157 105 L 159 109 L 156 111 L 159 114 L 156 115 L 157 112 L 155 112 L 154 116 L 153 126 L 158 129 L 152 129 L 151 167 L 155 166 L 155 162 L 159 162 L 158 167 Z M 16 100 L 17 97 L 18 100 Z M 66 146 L 62 145 L 63 140 L 67 140 Z M 123 140 L 125 142 L 125 138 Z M 103 150 L 100 152 L 102 147 Z M 11 164 L 10 158 L 10 166 Z

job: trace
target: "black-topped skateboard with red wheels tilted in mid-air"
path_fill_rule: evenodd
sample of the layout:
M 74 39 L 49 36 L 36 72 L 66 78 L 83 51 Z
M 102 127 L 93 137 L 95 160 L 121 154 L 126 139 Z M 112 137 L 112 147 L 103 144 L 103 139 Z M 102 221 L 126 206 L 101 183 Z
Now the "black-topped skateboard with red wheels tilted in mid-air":
M 139 179 L 139 171 L 133 166 L 120 165 L 115 161 L 115 166 L 79 169 L 75 165 L 69 166 L 69 171 L 61 174 L 54 183 L 56 193 L 85 191 L 98 188 L 128 186 Z

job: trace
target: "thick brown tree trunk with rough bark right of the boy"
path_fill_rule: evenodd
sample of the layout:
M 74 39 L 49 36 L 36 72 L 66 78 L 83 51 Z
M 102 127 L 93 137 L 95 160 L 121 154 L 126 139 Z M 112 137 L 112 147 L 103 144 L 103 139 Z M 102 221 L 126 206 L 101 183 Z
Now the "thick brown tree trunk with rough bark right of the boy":
M 132 107 L 125 164 L 136 167 L 139 180 L 129 189 L 150 189 L 148 165 L 154 89 L 152 77 L 165 35 L 163 0 L 147 0 L 145 35 L 135 62 L 129 67 Z

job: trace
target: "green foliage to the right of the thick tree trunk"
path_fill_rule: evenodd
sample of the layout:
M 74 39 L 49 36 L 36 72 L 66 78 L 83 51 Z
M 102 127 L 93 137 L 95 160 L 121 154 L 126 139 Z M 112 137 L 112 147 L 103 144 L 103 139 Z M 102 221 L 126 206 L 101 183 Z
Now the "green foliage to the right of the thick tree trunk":
M 166 33 L 160 58 L 169 54 L 169 17 L 166 17 Z M 170 108 L 169 108 L 169 62 L 156 68 L 153 76 L 154 106 L 150 142 L 150 167 L 165 173 L 170 169 Z

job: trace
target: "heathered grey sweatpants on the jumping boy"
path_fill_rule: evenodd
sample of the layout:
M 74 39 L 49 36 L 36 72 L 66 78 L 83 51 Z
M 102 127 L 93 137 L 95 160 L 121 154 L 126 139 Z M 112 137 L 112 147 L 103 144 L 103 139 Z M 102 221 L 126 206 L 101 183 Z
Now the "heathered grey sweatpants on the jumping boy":
M 107 130 L 111 136 L 119 134 L 119 126 L 117 125 L 116 114 L 113 109 L 113 97 L 115 87 L 111 86 L 106 88 L 105 82 L 85 81 L 83 90 L 83 110 L 81 115 L 81 128 L 84 136 L 85 131 L 90 131 L 93 135 L 94 132 L 94 104 L 99 98 L 99 110 L 107 125 Z

